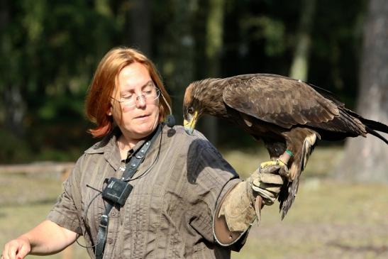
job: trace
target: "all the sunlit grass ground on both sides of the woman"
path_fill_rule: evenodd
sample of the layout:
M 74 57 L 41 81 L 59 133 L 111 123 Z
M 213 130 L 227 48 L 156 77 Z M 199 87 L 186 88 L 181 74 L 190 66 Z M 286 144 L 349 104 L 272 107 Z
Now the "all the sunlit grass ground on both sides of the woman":
M 225 151 L 223 155 L 242 178 L 268 159 L 261 150 Z M 278 204 L 265 207 L 262 223 L 253 225 L 247 243 L 232 258 L 388 258 L 388 185 L 331 180 L 331 170 L 341 155 L 340 148 L 317 148 L 284 220 Z M 0 188 L 2 248 L 45 219 L 61 192 L 61 183 L 59 176 L 0 174 Z M 84 248 L 73 246 L 73 258 L 88 258 Z

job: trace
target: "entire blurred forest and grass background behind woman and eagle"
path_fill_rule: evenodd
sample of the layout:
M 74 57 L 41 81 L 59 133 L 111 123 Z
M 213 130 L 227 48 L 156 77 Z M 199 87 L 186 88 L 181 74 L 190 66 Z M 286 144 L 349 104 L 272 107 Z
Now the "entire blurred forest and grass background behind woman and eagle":
M 45 219 L 72 163 L 97 141 L 84 97 L 118 45 L 155 62 L 179 124 L 190 82 L 248 73 L 302 79 L 388 124 L 386 0 L 0 0 L 0 36 L 1 248 Z M 268 159 L 237 128 L 199 123 L 241 177 Z M 286 218 L 265 208 L 233 258 L 387 258 L 387 219 L 387 145 L 321 142 Z M 87 255 L 74 245 L 50 258 Z

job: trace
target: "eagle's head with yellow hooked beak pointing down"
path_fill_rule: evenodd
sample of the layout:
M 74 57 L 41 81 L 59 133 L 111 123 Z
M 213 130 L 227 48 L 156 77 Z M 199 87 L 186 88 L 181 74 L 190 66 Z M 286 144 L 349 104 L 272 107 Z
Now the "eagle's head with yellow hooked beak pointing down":
M 200 87 L 200 82 L 193 82 L 189 84 L 186 92 L 184 92 L 183 99 L 183 125 L 184 131 L 189 135 L 192 135 L 196 121 L 204 113 L 204 106 L 201 104 L 199 99 L 200 95 L 198 89 Z

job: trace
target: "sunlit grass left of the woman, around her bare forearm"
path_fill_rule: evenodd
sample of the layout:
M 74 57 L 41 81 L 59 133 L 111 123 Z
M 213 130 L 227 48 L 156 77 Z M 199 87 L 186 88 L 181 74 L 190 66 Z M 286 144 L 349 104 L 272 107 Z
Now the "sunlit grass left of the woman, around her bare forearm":
M 45 219 L 62 192 L 59 175 L 0 174 L 0 249 Z M 80 241 L 82 242 L 82 241 Z M 84 248 L 72 245 L 73 258 L 89 258 Z M 0 250 L 0 251 L 1 251 Z M 60 259 L 67 251 L 45 258 Z M 27 258 L 42 258 L 28 255 Z

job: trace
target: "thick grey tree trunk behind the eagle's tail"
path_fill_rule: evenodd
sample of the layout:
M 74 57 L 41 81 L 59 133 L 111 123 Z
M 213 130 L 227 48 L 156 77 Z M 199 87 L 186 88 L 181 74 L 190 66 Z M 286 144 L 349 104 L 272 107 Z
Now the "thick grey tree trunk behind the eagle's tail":
M 388 124 L 388 1 L 371 0 L 364 28 L 357 111 Z M 388 138 L 388 134 L 382 134 Z M 388 182 L 388 148 L 375 136 L 349 139 L 336 170 L 343 180 Z

